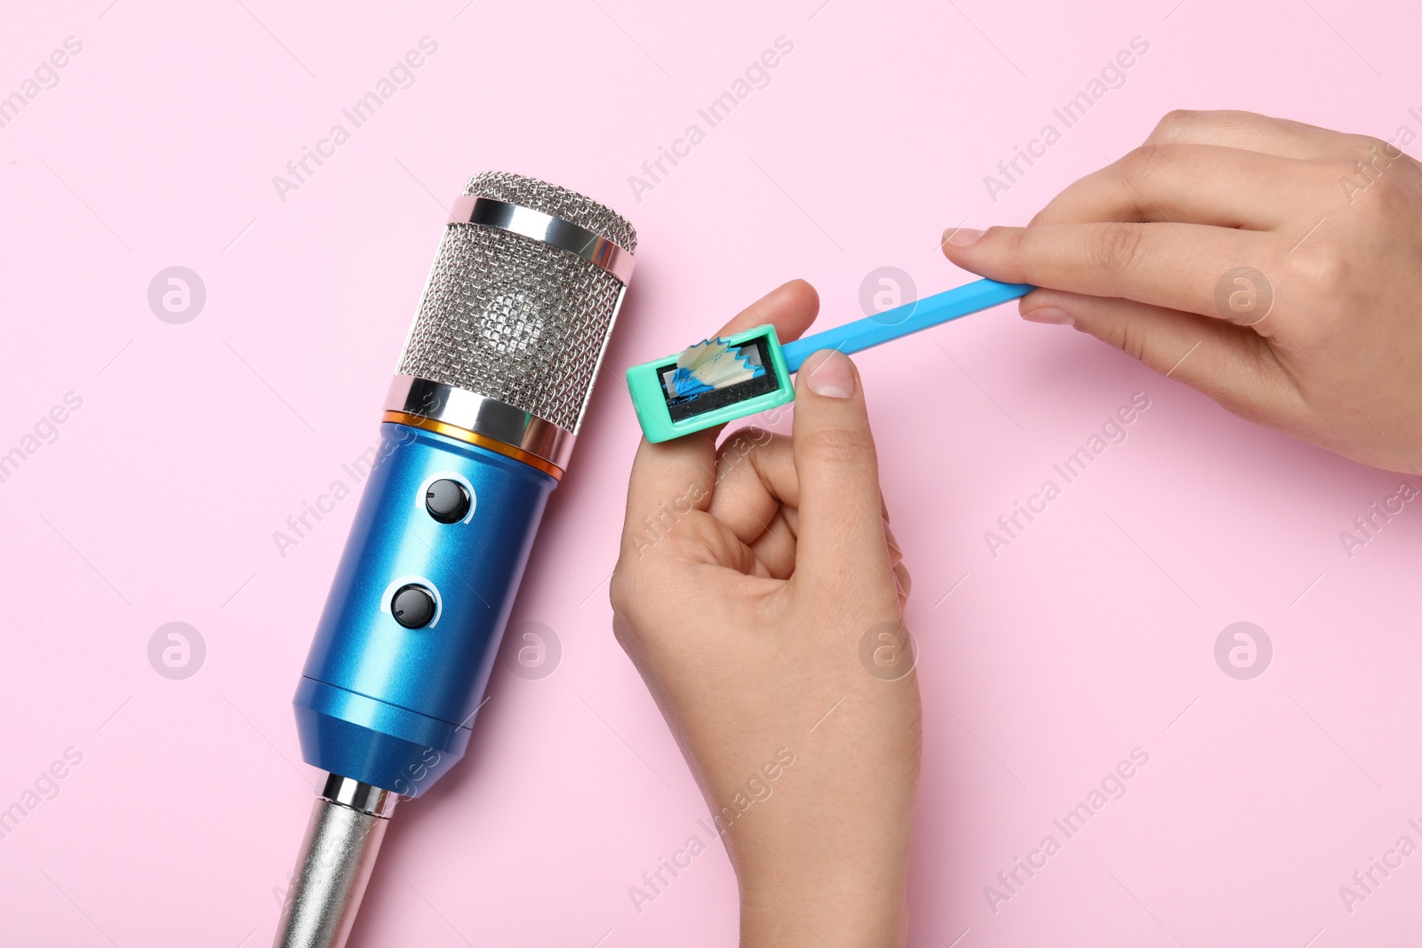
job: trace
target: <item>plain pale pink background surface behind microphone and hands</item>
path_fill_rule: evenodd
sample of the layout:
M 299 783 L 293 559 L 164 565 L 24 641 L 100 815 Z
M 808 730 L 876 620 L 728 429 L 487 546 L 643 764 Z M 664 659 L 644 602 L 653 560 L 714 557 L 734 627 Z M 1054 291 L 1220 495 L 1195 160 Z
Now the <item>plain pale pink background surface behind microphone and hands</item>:
M 472 173 L 543 176 L 637 225 L 620 371 L 789 277 L 830 321 L 880 266 L 956 286 L 943 227 L 1027 220 L 1172 108 L 1422 132 L 1404 3 L 108 3 L 24 4 L 0 31 L 0 95 L 82 43 L 0 129 L 0 452 L 82 398 L 0 483 L 0 807 L 82 753 L 0 839 L 7 945 L 269 944 L 316 779 L 290 698 L 356 502 L 286 557 L 272 533 L 375 439 Z M 280 200 L 273 175 L 425 36 L 414 84 Z M 782 36 L 769 85 L 637 200 L 629 176 Z M 1133 37 L 1126 84 L 994 203 L 983 176 Z M 185 325 L 146 301 L 175 264 L 208 291 Z M 1415 937 L 1422 856 L 1351 914 L 1338 894 L 1422 843 L 1422 512 L 1351 559 L 1340 542 L 1401 478 L 1010 307 L 857 361 L 921 644 L 910 944 Z M 1129 439 L 994 559 L 984 530 L 1135 392 Z M 562 664 L 501 665 L 469 758 L 400 813 L 354 945 L 734 941 L 718 846 L 640 914 L 627 893 L 704 836 L 610 634 L 636 441 L 609 374 L 515 611 L 556 630 Z M 169 621 L 206 641 L 185 681 L 148 661 Z M 1274 644 L 1253 681 L 1214 661 L 1234 621 Z M 1129 793 L 994 914 L 984 887 L 1138 746 Z

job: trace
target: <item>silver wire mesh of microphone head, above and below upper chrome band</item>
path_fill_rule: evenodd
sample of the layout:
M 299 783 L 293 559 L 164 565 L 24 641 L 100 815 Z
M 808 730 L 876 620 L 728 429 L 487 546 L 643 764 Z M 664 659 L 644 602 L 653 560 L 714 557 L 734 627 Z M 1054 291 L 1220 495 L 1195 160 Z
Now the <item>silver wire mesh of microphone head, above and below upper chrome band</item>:
M 533 178 L 486 172 L 465 193 L 562 217 L 629 253 L 637 246 L 637 232 L 613 210 Z M 397 371 L 496 398 L 576 435 L 621 293 L 617 277 L 566 250 L 449 225 Z

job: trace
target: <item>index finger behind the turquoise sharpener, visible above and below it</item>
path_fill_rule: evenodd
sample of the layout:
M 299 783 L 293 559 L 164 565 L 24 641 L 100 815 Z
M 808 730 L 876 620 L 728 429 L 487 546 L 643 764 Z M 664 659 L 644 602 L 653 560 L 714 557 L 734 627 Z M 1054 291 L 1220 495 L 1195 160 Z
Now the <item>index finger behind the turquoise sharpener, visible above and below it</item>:
M 818 311 L 815 287 L 805 280 L 791 280 L 741 310 L 717 335 L 771 323 L 782 341 L 791 341 L 809 328 Z M 721 426 L 708 428 L 656 445 L 643 438 L 627 485 L 624 543 L 631 530 L 640 530 L 651 519 L 665 517 L 668 505 L 681 497 L 687 499 L 684 505 L 707 509 L 715 485 L 715 442 L 720 433 Z

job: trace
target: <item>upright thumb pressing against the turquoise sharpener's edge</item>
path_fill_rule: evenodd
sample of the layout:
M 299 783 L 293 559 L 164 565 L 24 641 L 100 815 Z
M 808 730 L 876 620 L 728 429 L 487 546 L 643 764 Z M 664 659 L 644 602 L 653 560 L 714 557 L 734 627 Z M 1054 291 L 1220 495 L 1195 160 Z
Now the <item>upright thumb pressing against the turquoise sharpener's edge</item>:
M 848 604 L 877 590 L 896 601 L 863 387 L 842 352 L 815 352 L 801 367 L 792 445 L 799 480 L 793 584 L 818 600 L 829 591 Z

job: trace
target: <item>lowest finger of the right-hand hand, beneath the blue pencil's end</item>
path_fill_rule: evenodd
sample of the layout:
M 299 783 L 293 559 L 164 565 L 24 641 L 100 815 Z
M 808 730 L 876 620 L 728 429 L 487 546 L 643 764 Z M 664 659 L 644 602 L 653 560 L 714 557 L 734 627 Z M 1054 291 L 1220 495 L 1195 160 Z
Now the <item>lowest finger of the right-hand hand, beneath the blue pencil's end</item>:
M 1244 418 L 1277 416 L 1293 387 L 1270 357 L 1268 340 L 1224 320 L 1059 290 L 1034 290 L 1020 308 L 1030 323 L 1066 324 L 1095 335 Z

